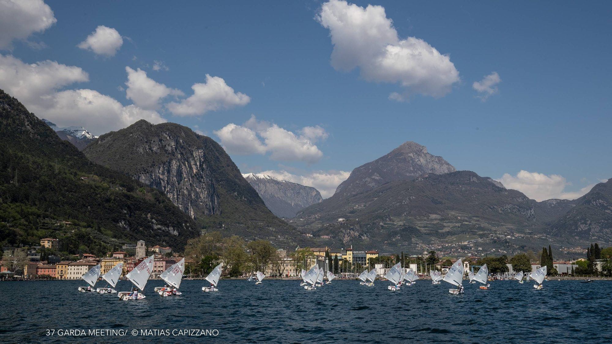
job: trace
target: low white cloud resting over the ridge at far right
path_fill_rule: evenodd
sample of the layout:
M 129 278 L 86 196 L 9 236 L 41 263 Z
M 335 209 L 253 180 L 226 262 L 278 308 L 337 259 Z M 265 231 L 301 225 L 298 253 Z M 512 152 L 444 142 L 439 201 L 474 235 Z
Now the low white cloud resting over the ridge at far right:
M 504 184 L 506 189 L 518 190 L 536 201 L 550 200 L 551 198 L 575 200 L 595 186 L 595 184 L 591 184 L 579 191 L 565 192 L 565 187 L 572 184 L 559 174 L 546 175 L 524 170 L 521 170 L 516 176 L 506 173 L 502 178 L 495 180 Z

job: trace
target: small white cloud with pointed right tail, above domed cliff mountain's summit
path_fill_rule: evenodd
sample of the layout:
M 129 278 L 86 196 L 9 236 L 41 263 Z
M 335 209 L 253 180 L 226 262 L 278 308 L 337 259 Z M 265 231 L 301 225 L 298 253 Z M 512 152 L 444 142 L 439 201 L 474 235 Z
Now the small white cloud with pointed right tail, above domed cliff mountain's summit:
M 125 67 L 127 81 L 125 81 L 125 97 L 131 99 L 138 107 L 155 110 L 160 107 L 160 100 L 168 95 L 183 95 L 178 89 L 167 88 L 165 84 L 155 82 L 147 77 L 147 73 L 140 68 L 133 70 Z

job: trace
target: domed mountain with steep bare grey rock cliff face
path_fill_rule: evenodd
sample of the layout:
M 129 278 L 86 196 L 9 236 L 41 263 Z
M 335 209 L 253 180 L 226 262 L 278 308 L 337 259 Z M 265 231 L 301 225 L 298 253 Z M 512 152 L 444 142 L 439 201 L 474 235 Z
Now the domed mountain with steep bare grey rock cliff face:
M 100 136 L 83 152 L 160 190 L 205 230 L 277 245 L 305 240 L 266 208 L 217 142 L 182 125 L 141 120 Z

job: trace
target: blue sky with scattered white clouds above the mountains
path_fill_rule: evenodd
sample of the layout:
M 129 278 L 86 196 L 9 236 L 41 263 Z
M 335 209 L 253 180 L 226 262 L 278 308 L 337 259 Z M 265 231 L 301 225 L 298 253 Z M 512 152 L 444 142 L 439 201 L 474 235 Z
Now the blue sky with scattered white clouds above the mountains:
M 611 2 L 0 0 L 0 88 L 95 135 L 211 136 L 316 187 L 405 141 L 530 198 L 612 178 Z

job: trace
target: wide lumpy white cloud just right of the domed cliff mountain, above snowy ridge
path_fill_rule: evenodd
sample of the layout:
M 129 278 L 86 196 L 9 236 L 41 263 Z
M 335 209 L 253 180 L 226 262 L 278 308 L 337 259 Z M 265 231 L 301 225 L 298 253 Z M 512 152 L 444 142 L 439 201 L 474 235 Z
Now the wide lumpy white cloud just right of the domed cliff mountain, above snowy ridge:
M 221 144 L 230 154 L 266 154 L 277 161 L 318 162 L 323 152 L 316 141 L 325 140 L 327 132 L 319 127 L 304 127 L 293 133 L 266 121 L 258 121 L 255 116 L 243 125 L 230 123 L 214 132 Z

